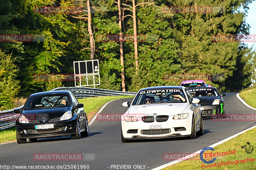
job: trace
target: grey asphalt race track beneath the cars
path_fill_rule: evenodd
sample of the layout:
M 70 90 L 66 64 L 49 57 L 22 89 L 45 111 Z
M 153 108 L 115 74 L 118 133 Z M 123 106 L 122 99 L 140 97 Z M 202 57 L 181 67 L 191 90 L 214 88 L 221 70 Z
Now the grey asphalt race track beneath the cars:
M 255 110 L 244 106 L 237 99 L 236 93 L 226 94 L 223 97 L 226 115 L 256 113 Z M 131 99 L 120 99 L 110 102 L 102 110 L 102 118 L 104 118 L 104 114 L 123 114 L 127 110 L 126 107 L 122 106 L 124 101 L 131 101 Z M 171 162 L 170 160 L 163 159 L 164 153 L 193 153 L 254 125 L 256 125 L 255 121 L 220 122 L 204 119 L 204 135 L 198 136 L 196 139 L 170 138 L 122 143 L 120 121 L 99 121 L 96 119 L 89 127 L 89 137 L 71 140 L 70 136 L 67 136 L 39 139 L 36 142 L 28 141 L 27 144 L 17 144 L 16 142 L 1 144 L 0 165 L 9 165 L 11 167 L 12 165 L 50 165 L 55 166 L 54 169 L 57 169 L 57 165 L 89 165 L 89 169 L 92 170 L 114 169 L 113 165 L 131 165 L 131 169 L 152 169 Z M 83 155 L 91 154 L 95 156 L 95 159 L 82 161 L 36 161 L 33 159 L 33 155 L 37 153 L 82 153 Z M 141 167 L 138 168 L 137 165 Z M 120 168 L 120 166 L 116 167 L 124 169 Z M 2 168 L 0 166 L 0 169 Z

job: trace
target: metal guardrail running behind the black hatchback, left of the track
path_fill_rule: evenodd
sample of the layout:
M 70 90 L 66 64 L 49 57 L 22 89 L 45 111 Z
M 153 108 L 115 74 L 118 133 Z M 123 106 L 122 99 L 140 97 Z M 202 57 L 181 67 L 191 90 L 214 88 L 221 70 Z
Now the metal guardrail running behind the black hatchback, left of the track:
M 89 98 L 89 97 L 102 97 L 102 96 L 121 96 L 121 95 L 132 95 L 134 96 L 136 92 L 121 92 L 116 90 L 98 89 L 91 87 L 57 87 L 50 91 L 57 90 L 69 90 L 75 92 L 76 98 Z M 24 105 L 14 108 L 22 109 Z M 13 110 L 0 111 L 0 130 L 11 128 L 15 126 L 15 120 L 20 114 L 13 113 Z

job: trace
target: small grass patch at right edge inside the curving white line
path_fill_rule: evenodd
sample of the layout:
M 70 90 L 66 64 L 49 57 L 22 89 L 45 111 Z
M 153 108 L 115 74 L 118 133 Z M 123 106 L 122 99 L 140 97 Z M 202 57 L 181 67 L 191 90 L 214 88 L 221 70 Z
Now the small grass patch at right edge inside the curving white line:
M 256 108 L 256 88 L 242 91 L 239 96 L 250 106 Z

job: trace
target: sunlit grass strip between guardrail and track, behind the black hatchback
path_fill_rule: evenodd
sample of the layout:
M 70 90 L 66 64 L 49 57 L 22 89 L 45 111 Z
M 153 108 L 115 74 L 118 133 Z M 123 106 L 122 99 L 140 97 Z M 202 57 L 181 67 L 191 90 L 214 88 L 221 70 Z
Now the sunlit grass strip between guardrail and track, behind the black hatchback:
M 111 100 L 123 99 L 123 98 L 133 98 L 134 96 L 104 96 L 104 97 L 91 97 L 78 99 L 79 103 L 84 104 L 84 110 L 87 113 L 88 121 L 90 122 L 91 118 L 95 113 L 98 112 L 100 107 L 105 103 Z M 0 144 L 7 142 L 16 141 L 16 129 L 15 127 L 4 129 L 0 131 Z

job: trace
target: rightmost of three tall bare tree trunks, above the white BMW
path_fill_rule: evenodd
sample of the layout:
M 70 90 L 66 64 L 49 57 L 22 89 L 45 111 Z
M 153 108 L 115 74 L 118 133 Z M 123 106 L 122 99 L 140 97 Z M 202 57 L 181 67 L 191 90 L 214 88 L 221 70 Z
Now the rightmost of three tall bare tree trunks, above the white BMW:
M 136 26 L 136 12 L 135 0 L 132 0 L 132 16 L 133 16 L 133 36 L 134 36 L 134 59 L 135 59 L 135 72 L 138 74 L 138 44 L 137 44 L 137 26 Z

